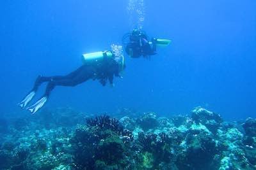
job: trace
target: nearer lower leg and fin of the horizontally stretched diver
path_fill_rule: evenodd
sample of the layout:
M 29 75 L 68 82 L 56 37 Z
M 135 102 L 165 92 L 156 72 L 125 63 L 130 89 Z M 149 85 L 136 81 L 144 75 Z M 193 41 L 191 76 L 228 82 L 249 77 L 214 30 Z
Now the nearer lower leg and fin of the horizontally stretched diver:
M 35 104 L 30 106 L 28 110 L 31 111 L 31 113 L 36 113 L 36 111 L 42 108 L 42 106 L 44 106 L 44 104 L 47 102 L 47 99 L 49 98 L 51 91 L 54 89 L 54 87 L 56 86 L 74 87 L 93 77 L 93 70 L 90 69 L 90 67 L 83 67 L 77 70 L 79 71 L 76 71 L 76 74 L 73 74 L 72 76 L 63 76 L 63 78 L 58 78 L 58 80 L 52 78 L 52 80 L 49 81 L 46 87 L 44 96 L 41 97 Z

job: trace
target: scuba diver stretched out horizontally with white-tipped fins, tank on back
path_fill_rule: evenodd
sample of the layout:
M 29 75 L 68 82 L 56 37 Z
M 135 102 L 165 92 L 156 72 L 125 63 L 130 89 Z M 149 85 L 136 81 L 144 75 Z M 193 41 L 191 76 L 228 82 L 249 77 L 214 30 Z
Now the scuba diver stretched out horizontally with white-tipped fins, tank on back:
M 19 106 L 25 108 L 35 96 L 38 87 L 44 82 L 48 83 L 44 95 L 35 104 L 26 108 L 32 114 L 44 106 L 56 86 L 74 87 L 90 79 L 99 80 L 103 86 L 109 81 L 113 86 L 114 76 L 121 77 L 120 73 L 124 70 L 125 65 L 122 46 L 111 45 L 111 47 L 112 51 L 83 54 L 83 66 L 66 76 L 38 76 L 33 89 L 19 103 Z

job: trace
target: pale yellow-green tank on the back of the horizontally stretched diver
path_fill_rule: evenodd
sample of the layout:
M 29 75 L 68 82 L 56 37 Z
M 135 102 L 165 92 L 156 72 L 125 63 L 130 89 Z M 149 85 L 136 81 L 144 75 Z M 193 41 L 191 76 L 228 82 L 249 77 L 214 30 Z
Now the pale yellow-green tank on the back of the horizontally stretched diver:
M 111 58 L 113 53 L 109 51 L 102 52 L 93 52 L 93 53 L 84 53 L 82 55 L 83 62 L 98 62 L 104 59 L 104 57 Z

